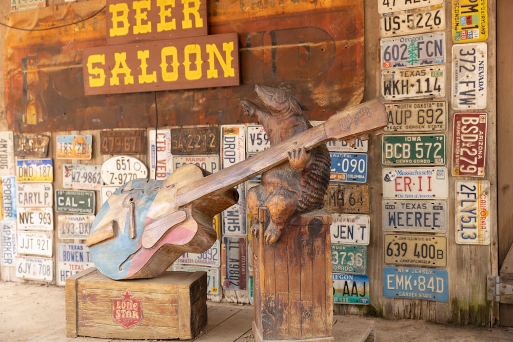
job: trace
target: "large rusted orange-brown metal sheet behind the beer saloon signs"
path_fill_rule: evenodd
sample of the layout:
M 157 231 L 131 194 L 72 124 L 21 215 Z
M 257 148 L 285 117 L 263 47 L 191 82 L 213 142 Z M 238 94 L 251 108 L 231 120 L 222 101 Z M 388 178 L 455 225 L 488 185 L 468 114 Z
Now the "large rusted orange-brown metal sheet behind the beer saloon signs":
M 15 27 L 49 28 L 81 21 L 103 5 L 92 0 L 14 12 L 6 21 Z M 154 127 L 155 105 L 160 126 L 254 122 L 238 101 L 254 98 L 254 84 L 286 87 L 310 108 L 309 119 L 326 119 L 363 97 L 363 7 L 359 0 L 209 0 L 209 34 L 238 33 L 241 85 L 156 93 L 84 95 L 82 51 L 105 45 L 105 10 L 51 31 L 6 29 L 9 129 Z

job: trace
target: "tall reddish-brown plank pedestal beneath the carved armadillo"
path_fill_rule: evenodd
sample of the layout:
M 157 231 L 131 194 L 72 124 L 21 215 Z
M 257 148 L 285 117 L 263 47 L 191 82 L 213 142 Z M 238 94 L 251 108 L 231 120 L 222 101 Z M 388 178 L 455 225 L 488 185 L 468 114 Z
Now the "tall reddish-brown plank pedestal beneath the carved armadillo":
M 252 238 L 255 341 L 332 342 L 331 216 L 295 218 L 277 243 Z

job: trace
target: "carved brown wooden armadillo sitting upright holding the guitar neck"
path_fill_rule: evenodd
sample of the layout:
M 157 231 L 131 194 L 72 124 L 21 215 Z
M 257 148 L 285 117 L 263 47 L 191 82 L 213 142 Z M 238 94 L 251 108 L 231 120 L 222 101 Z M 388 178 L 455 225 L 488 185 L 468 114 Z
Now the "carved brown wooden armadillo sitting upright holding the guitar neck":
M 249 100 L 241 102 L 246 115 L 256 117 L 264 127 L 271 146 L 312 127 L 303 116 L 306 106 L 286 90 L 257 85 L 255 92 L 266 109 Z M 330 156 L 324 144 L 310 151 L 303 146 L 289 151 L 288 162 L 264 172 L 261 183 L 248 191 L 251 234 L 258 236 L 267 219 L 262 217 L 262 208 L 267 208 L 270 216 L 264 232 L 269 244 L 277 242 L 293 215 L 322 208 L 329 169 Z

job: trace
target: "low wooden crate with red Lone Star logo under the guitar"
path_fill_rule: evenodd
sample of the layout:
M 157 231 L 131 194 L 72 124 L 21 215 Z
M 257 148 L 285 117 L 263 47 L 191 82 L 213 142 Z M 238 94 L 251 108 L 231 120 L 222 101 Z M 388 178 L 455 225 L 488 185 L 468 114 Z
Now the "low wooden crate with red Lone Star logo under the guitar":
M 66 279 L 68 337 L 190 339 L 206 323 L 206 272 L 112 280 L 89 268 Z

